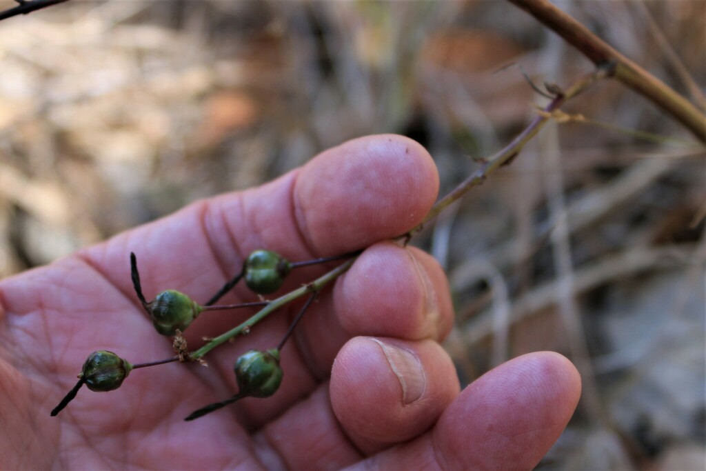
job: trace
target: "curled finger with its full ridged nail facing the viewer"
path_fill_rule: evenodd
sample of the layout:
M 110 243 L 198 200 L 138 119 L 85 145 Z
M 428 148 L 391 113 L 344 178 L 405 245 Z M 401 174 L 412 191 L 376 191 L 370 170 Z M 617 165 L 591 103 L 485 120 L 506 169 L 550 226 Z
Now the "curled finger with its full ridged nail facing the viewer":
M 358 337 L 338 354 L 330 391 L 342 429 L 369 454 L 429 429 L 459 384 L 436 342 Z

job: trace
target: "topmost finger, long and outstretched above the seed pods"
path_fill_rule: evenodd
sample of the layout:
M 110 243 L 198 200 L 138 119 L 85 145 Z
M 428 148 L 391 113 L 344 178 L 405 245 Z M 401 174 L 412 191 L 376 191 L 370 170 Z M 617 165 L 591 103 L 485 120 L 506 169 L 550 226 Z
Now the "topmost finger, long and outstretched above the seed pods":
M 145 296 L 171 287 L 205 300 L 255 249 L 294 261 L 361 249 L 419 223 L 437 191 L 424 148 L 402 136 L 370 136 L 270 184 L 194 203 L 83 255 L 131 294 L 126 261 L 135 251 Z

